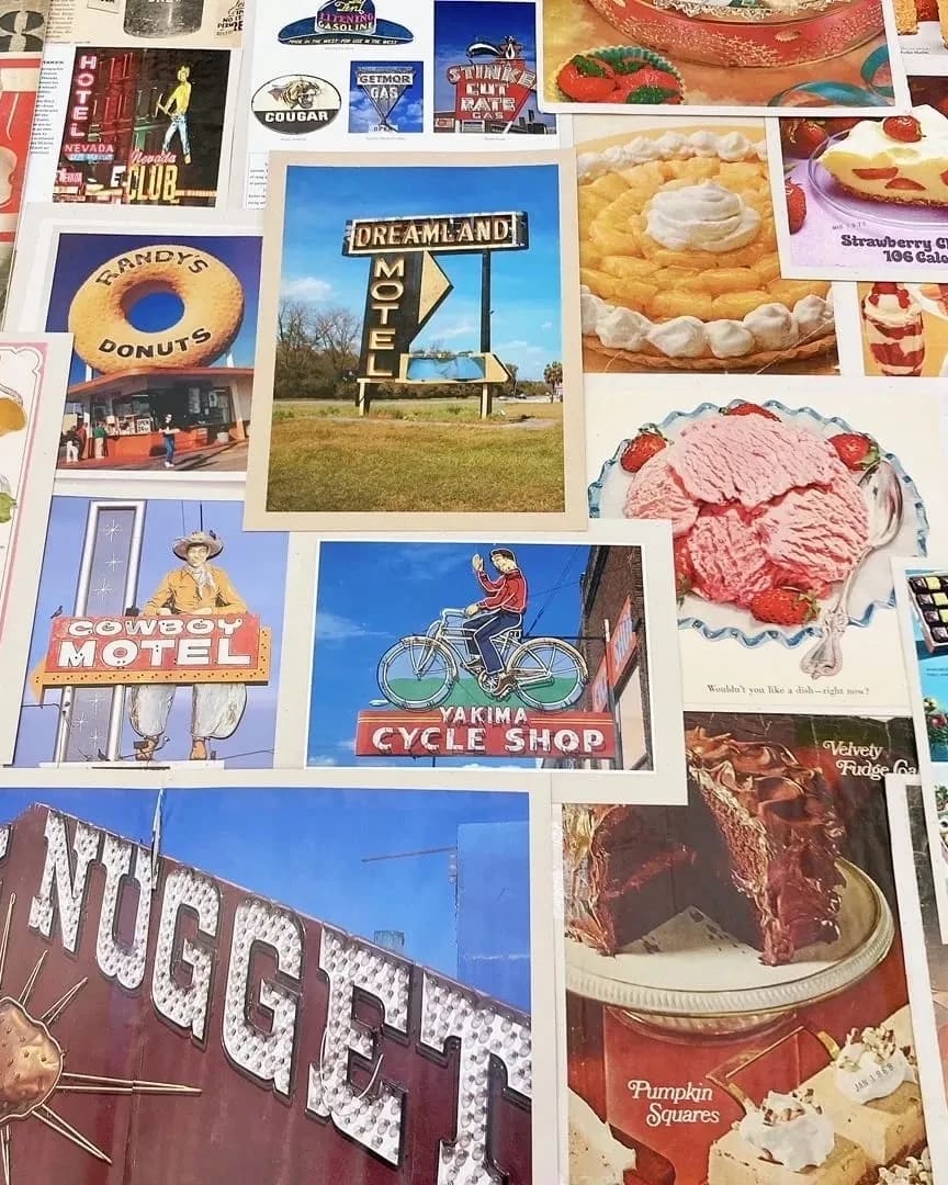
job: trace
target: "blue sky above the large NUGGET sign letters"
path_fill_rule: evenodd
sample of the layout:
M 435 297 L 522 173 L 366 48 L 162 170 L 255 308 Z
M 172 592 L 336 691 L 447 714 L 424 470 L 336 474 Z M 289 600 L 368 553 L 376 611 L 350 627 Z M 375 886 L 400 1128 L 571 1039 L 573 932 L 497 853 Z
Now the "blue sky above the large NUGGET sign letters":
M 5 789 L 0 821 L 15 819 L 34 802 L 150 843 L 150 792 Z M 523 825 L 527 811 L 526 794 L 470 790 L 178 789 L 165 795 L 162 852 L 369 940 L 376 930 L 402 930 L 408 957 L 456 975 L 449 853 L 369 864 L 364 857 L 455 847 L 459 827 Z M 526 933 L 525 827 L 521 851 L 515 866 L 507 859 L 502 889 L 485 878 L 472 901 L 483 922 L 476 927 L 481 934 L 489 935 L 492 920 L 504 934 L 513 921 Z M 513 921 L 507 916 L 512 911 Z M 510 1003 L 529 1007 L 526 1000 Z

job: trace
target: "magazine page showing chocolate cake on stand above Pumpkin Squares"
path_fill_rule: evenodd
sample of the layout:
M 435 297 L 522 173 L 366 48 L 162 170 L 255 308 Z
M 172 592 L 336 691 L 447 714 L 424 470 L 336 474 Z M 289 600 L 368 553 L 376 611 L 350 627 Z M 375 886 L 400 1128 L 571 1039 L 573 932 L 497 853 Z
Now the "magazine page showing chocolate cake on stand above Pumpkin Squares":
M 686 806 L 561 808 L 561 1179 L 930 1179 L 884 784 L 734 724 Z

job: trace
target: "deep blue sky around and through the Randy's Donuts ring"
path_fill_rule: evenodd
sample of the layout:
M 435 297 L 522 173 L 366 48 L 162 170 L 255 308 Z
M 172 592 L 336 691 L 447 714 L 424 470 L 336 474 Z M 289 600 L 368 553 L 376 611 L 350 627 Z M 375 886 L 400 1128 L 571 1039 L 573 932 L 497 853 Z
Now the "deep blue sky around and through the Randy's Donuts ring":
M 179 243 L 194 250 L 207 251 L 225 263 L 243 284 L 244 319 L 241 332 L 231 347 L 235 366 L 252 366 L 257 333 L 257 296 L 260 289 L 258 235 L 60 235 L 56 270 L 46 313 L 49 333 L 66 333 L 69 306 L 85 278 L 116 255 L 145 246 Z M 133 324 L 140 329 L 156 332 L 167 328 L 180 316 L 181 306 L 171 294 L 146 297 L 140 308 L 132 310 Z M 132 366 L 129 369 L 133 369 Z M 139 367 L 140 369 L 140 367 Z M 69 371 L 70 383 L 82 383 L 85 364 L 75 353 Z

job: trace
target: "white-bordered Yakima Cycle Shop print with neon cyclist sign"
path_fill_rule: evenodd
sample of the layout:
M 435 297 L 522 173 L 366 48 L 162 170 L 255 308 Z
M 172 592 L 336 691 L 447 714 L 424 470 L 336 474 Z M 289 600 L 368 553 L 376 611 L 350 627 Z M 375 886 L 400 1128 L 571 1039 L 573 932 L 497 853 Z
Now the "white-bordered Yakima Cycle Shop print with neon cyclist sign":
M 673 606 L 664 523 L 324 540 L 306 763 L 547 770 L 561 794 L 673 802 Z

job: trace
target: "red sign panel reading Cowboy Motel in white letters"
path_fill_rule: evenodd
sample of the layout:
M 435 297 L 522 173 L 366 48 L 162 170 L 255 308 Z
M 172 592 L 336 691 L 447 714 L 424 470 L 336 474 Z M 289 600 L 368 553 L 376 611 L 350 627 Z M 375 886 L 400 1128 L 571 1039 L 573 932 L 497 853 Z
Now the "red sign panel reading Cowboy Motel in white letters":
M 254 614 L 56 617 L 39 683 L 265 683 L 269 660 Z

